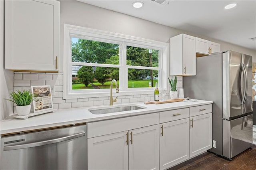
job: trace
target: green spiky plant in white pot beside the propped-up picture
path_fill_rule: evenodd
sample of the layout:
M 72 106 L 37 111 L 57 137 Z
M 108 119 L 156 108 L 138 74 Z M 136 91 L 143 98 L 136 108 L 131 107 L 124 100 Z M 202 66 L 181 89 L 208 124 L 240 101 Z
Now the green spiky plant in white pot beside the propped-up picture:
M 30 113 L 31 102 L 34 101 L 36 97 L 31 93 L 30 90 L 16 91 L 10 93 L 11 99 L 6 99 L 15 103 L 16 111 L 19 116 L 28 115 Z

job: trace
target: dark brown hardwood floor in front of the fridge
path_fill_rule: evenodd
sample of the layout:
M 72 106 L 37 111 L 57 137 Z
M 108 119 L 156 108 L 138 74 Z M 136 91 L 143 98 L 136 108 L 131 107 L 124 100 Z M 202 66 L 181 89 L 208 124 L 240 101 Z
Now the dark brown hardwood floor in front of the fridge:
M 168 170 L 256 170 L 256 145 L 231 161 L 206 152 Z

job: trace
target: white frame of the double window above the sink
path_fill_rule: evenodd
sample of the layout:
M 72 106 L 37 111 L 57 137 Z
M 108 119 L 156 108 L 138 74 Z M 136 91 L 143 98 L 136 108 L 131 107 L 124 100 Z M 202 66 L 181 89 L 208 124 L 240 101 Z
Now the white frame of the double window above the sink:
M 153 94 L 154 88 L 128 88 L 127 80 L 128 68 L 134 69 L 157 69 L 159 68 L 158 79 L 160 87 L 168 88 L 168 75 L 169 75 L 169 43 L 147 40 L 133 36 L 126 36 L 91 28 L 84 28 L 80 26 L 72 26 L 64 24 L 64 37 L 63 37 L 63 99 L 79 99 L 88 97 L 107 97 L 110 95 L 110 89 L 86 89 L 86 90 L 72 90 L 72 65 L 76 65 L 71 61 L 71 37 L 85 38 L 87 40 L 98 40 L 107 43 L 119 44 L 119 65 L 98 64 L 98 63 L 77 63 L 78 65 L 90 65 L 101 67 L 118 67 L 120 68 L 120 92 L 114 93 L 115 96 L 123 95 L 141 95 Z M 150 48 L 159 50 L 159 65 L 158 67 L 142 67 L 126 65 L 126 46 L 135 46 L 142 48 Z M 162 62 L 166 61 L 166 62 Z

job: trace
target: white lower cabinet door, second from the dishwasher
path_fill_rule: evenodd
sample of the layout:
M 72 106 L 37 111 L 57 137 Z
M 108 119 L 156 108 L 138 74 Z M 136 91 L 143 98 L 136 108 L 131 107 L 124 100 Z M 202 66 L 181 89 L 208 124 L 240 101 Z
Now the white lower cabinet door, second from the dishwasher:
M 129 170 L 159 169 L 158 125 L 129 130 Z

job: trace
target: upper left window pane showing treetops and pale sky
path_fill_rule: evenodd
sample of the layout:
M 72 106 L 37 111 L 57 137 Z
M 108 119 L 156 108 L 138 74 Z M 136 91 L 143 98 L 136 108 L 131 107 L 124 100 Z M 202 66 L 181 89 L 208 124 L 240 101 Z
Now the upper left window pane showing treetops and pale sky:
M 119 45 L 71 38 L 72 62 L 119 64 Z

